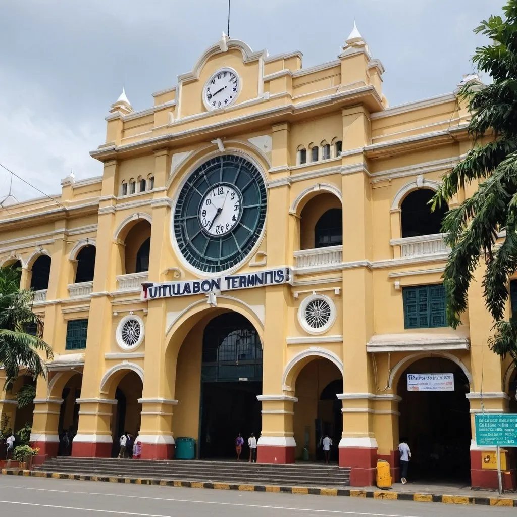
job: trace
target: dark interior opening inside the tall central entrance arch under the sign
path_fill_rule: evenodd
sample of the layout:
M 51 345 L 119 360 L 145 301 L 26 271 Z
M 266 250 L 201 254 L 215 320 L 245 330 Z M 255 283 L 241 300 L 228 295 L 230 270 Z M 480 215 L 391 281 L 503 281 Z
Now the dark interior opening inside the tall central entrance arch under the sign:
M 262 428 L 262 345 L 240 314 L 216 316 L 203 334 L 200 458 L 235 458 L 238 433 L 247 444 Z M 245 447 L 242 458 L 247 455 Z

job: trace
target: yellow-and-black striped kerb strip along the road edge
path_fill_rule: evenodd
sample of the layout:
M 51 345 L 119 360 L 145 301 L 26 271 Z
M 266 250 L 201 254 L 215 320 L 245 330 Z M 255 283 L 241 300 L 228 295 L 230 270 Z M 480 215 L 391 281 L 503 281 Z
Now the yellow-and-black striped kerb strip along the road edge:
M 134 483 L 146 485 L 178 486 L 193 489 L 238 490 L 246 492 L 277 492 L 300 495 L 320 495 L 338 497 L 360 497 L 387 500 L 415 501 L 417 503 L 444 503 L 453 505 L 483 505 L 517 507 L 517 493 L 499 496 L 492 490 L 472 490 L 463 485 L 440 485 L 395 483 L 389 490 L 381 490 L 375 486 L 364 488 L 313 488 L 307 486 L 278 486 L 258 484 L 237 484 L 211 481 L 186 481 L 159 478 L 133 478 L 124 476 L 96 476 L 84 474 L 64 474 L 44 472 L 43 470 L 17 470 L 3 468 L 3 475 L 34 476 L 55 479 L 75 479 L 77 481 L 104 481 L 109 483 Z

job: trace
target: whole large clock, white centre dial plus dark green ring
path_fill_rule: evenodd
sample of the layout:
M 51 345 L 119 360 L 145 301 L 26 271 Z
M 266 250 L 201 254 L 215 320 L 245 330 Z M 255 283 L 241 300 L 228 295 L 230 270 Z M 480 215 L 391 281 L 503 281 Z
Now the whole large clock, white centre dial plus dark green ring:
M 185 181 L 174 209 L 179 251 L 196 269 L 215 273 L 244 260 L 266 219 L 266 186 L 250 161 L 212 158 Z

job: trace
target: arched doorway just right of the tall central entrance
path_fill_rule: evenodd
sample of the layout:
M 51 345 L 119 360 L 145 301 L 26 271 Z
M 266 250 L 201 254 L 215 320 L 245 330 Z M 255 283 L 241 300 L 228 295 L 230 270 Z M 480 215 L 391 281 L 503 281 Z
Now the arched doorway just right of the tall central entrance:
M 315 358 L 299 372 L 295 384 L 293 431 L 296 459 L 302 459 L 306 449 L 310 460 L 323 460 L 320 440 L 328 434 L 332 440 L 330 459 L 338 461 L 339 441 L 343 432 L 342 402 L 343 376 L 328 359 Z

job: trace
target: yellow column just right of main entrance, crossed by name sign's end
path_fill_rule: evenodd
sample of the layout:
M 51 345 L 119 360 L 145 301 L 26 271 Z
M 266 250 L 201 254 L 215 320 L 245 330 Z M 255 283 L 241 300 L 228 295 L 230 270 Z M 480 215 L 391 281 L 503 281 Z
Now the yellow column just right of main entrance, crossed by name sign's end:
M 276 186 L 269 190 L 267 225 L 267 265 L 292 265 L 293 218 L 290 207 L 291 128 L 287 123 L 272 128 L 271 168 L 277 170 Z M 282 181 L 283 180 L 283 181 Z M 262 433 L 257 443 L 258 463 L 294 463 L 296 442 L 293 414 L 296 398 L 282 386 L 286 351 L 286 321 L 292 305 L 290 285 L 265 287 L 265 325 L 263 340 Z M 291 390 L 291 388 L 287 388 Z

